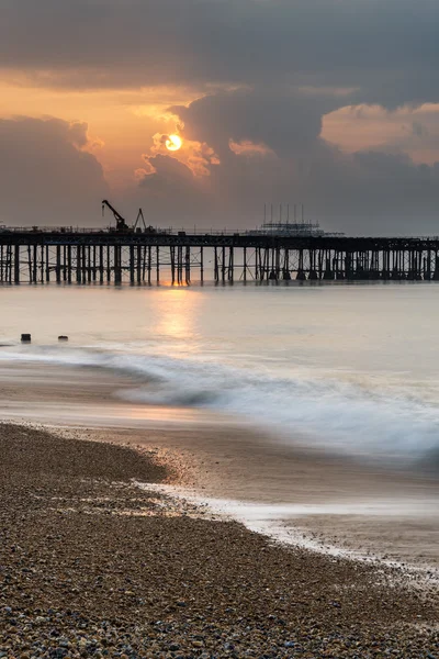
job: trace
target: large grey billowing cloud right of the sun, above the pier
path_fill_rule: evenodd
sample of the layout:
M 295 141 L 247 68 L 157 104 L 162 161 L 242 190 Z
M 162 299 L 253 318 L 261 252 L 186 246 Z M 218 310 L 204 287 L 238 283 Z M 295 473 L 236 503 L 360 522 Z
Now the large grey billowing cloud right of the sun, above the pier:
M 251 91 L 173 107 L 184 123 L 183 136 L 213 145 L 221 161 L 207 165 L 206 188 L 194 185 L 189 168 L 167 158 L 160 176 L 147 177 L 148 196 L 160 190 L 168 199 L 166 209 L 155 208 L 158 216 L 178 214 L 188 203 L 196 223 L 209 217 L 210 224 L 248 227 L 261 222 L 264 203 L 290 202 L 304 203 L 308 216 L 331 231 L 437 232 L 439 165 L 417 165 L 396 148 L 342 153 L 319 132 L 322 107 L 330 101 L 324 98 L 319 107 L 311 96 L 278 98 L 277 122 L 269 121 L 266 99 Z M 289 129 L 295 124 L 302 131 Z M 410 124 L 410 132 L 416 137 L 419 130 Z

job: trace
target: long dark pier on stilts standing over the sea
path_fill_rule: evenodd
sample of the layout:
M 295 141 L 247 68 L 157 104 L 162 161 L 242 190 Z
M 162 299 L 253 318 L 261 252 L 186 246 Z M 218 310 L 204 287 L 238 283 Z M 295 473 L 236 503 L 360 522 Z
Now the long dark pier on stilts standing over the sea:
M 439 280 L 439 237 L 0 228 L 0 282 Z

